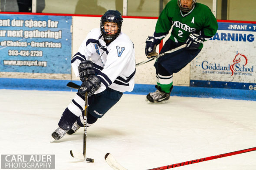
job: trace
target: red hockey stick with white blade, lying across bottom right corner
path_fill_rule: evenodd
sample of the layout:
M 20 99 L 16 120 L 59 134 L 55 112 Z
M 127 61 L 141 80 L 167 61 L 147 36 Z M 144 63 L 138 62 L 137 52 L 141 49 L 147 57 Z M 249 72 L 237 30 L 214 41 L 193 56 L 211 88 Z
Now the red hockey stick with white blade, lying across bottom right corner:
M 175 167 L 181 167 L 181 166 L 184 166 L 184 165 L 204 162 L 204 161 L 207 161 L 207 160 L 213 160 L 213 159 L 218 159 L 218 158 L 222 158 L 222 157 L 228 157 L 228 156 L 232 156 L 232 155 L 236 155 L 236 154 L 243 154 L 243 153 L 250 152 L 250 151 L 256 151 L 256 147 L 249 148 L 249 149 L 243 149 L 243 150 L 240 150 L 240 151 L 229 152 L 229 153 L 226 153 L 226 154 L 215 155 L 215 156 L 211 156 L 211 157 L 204 157 L 204 158 L 200 158 L 200 159 L 189 160 L 189 161 L 186 161 L 186 162 L 166 165 L 164 167 L 157 167 L 157 168 L 152 168 L 152 169 L 148 169 L 148 170 L 167 170 L 167 169 L 171 169 L 171 168 L 175 168 Z M 110 154 L 110 153 L 107 153 L 105 155 L 105 160 L 108 163 L 108 165 L 110 167 L 112 167 L 114 170 L 127 170 L 124 167 L 122 167 L 115 160 L 115 158 L 112 156 L 112 154 Z

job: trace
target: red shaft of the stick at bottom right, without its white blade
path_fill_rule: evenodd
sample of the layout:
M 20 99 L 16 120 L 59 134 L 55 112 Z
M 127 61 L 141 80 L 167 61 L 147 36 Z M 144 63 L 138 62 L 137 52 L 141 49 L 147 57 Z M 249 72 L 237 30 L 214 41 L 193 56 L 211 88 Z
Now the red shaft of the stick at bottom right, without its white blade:
M 181 167 L 181 166 L 189 165 L 189 164 L 195 164 L 195 163 L 199 163 L 199 162 L 203 162 L 203 161 L 207 161 L 207 160 L 218 159 L 221 157 L 228 157 L 228 156 L 232 156 L 232 155 L 236 155 L 236 154 L 243 154 L 243 153 L 250 152 L 250 151 L 256 151 L 256 147 L 249 148 L 249 149 L 243 149 L 241 151 L 234 151 L 234 152 L 230 152 L 230 153 L 226 153 L 226 154 L 215 155 L 215 156 L 211 156 L 211 157 L 204 157 L 204 158 L 200 158 L 200 159 L 189 160 L 189 161 L 178 163 L 178 164 L 172 164 L 172 165 L 167 165 L 167 166 L 158 167 L 158 168 L 152 168 L 152 169 L 148 169 L 148 170 L 167 170 L 167 169 Z

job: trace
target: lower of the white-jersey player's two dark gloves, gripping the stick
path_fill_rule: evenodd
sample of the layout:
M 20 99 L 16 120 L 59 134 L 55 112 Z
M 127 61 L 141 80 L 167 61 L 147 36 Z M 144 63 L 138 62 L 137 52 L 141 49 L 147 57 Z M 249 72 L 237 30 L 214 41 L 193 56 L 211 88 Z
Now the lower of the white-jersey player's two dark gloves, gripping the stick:
M 82 83 L 82 85 L 79 87 L 78 92 L 83 96 L 86 92 L 88 92 L 88 96 L 92 96 L 93 93 L 95 93 L 95 91 L 100 88 L 100 85 L 101 80 L 97 76 L 92 75 Z

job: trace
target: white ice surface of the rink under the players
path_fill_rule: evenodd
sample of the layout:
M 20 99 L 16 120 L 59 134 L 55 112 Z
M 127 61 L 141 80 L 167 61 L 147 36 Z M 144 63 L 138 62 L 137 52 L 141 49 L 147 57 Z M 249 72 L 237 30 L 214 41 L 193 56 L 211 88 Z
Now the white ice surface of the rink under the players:
M 54 154 L 56 170 L 112 170 L 110 152 L 128 170 L 147 170 L 256 147 L 256 101 L 171 96 L 148 104 L 145 95 L 124 94 L 87 128 L 50 143 L 75 92 L 0 89 L 0 154 Z M 175 167 L 174 170 L 255 170 L 256 151 Z

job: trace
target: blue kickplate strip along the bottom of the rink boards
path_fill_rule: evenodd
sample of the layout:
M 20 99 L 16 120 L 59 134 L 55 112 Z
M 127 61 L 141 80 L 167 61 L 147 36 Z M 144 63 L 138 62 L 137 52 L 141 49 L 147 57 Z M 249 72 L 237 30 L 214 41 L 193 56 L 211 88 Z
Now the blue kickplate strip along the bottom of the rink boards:
M 69 81 L 70 80 L 0 78 L 0 89 L 77 91 L 66 86 Z M 81 83 L 81 81 L 77 80 L 73 82 L 77 84 Z M 153 91 L 155 91 L 155 87 L 152 84 L 135 84 L 134 90 L 132 92 L 126 92 L 125 94 L 146 95 Z M 256 101 L 256 90 L 175 86 L 171 92 L 171 96 L 212 97 Z

